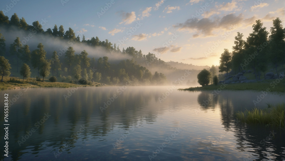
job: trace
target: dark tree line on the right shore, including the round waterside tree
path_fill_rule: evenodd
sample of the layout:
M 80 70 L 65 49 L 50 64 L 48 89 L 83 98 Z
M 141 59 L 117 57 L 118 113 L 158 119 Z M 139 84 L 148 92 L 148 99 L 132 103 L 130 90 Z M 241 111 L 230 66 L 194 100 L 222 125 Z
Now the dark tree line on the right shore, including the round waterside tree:
M 256 20 L 253 24 L 253 32 L 249 34 L 246 40 L 243 40 L 243 33 L 237 32 L 235 36 L 233 51 L 230 53 L 229 49 L 224 49 L 220 57 L 219 72 L 228 72 L 230 70 L 235 73 L 244 70 L 252 69 L 255 79 L 260 79 L 263 74 L 266 79 L 265 71 L 270 66 L 275 68 L 275 72 L 279 77 L 278 69 L 280 65 L 285 63 L 285 28 L 283 28 L 280 18 L 273 21 L 273 26 L 270 28 L 271 35 L 266 27 L 263 27 L 261 20 Z M 208 85 L 211 77 L 216 74 L 214 65 L 210 72 L 204 69 L 197 76 L 198 83 L 202 86 Z

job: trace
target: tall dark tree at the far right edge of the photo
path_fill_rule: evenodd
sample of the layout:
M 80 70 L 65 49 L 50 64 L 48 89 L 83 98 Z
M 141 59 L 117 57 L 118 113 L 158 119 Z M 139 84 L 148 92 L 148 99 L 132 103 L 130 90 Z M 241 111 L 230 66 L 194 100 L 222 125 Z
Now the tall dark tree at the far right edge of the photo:
M 270 28 L 270 42 L 271 46 L 271 62 L 275 65 L 276 73 L 279 77 L 277 66 L 278 63 L 284 61 L 285 57 L 285 28 L 283 28 L 282 21 L 279 17 L 273 20 L 273 27 Z

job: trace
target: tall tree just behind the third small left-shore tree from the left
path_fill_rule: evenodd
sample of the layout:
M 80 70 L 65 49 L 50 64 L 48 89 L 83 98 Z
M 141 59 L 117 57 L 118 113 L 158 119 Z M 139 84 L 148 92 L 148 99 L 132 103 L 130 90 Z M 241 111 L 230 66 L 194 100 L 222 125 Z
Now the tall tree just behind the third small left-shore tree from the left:
M 42 43 L 39 43 L 37 48 L 38 49 L 35 49 L 31 53 L 31 63 L 34 69 L 38 68 L 39 75 L 40 67 L 42 66 L 44 60 L 46 60 L 46 51 L 44 50 L 44 46 L 42 45 Z

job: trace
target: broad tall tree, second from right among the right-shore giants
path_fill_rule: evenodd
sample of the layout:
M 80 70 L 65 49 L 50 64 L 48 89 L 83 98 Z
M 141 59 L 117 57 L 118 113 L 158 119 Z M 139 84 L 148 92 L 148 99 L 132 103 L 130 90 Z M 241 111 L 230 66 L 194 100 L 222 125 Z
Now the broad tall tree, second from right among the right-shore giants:
M 266 57 L 266 53 L 263 50 L 264 48 L 261 48 L 261 45 L 267 43 L 268 32 L 266 31 L 266 27 L 262 27 L 263 23 L 261 23 L 261 20 L 256 20 L 255 22 L 256 24 L 252 26 L 253 32 L 249 34 L 246 45 L 248 45 L 248 48 L 252 48 L 251 50 L 257 52 L 254 54 L 256 56 L 250 64 L 255 72 L 255 78 L 260 79 L 260 67 L 264 66 L 267 61 L 267 59 L 263 59 Z M 253 53 L 248 53 L 247 57 L 250 57 L 249 54 Z

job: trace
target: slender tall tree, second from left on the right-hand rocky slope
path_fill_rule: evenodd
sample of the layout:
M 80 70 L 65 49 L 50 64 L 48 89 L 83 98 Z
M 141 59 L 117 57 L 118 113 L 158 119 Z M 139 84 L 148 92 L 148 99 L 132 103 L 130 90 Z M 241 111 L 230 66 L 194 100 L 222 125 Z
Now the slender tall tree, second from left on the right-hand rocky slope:
M 237 36 L 235 36 L 234 41 L 235 46 L 233 46 L 233 57 L 232 57 L 232 65 L 233 69 L 237 71 L 241 71 L 241 63 L 244 57 L 244 46 L 245 40 L 243 40 L 243 34 L 237 32 Z

